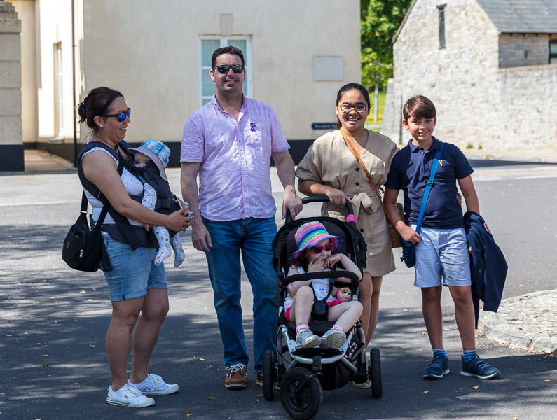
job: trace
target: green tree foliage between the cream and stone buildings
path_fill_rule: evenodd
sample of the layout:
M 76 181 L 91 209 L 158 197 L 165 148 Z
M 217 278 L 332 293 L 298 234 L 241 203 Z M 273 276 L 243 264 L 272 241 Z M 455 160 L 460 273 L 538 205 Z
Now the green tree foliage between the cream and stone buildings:
M 392 37 L 413 0 L 360 0 L 362 84 L 381 89 L 392 77 Z

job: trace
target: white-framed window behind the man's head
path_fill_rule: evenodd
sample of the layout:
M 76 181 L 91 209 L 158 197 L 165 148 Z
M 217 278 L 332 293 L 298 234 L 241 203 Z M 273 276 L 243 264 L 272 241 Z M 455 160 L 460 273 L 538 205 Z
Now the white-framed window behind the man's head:
M 214 82 L 211 80 L 211 75 L 209 74 L 213 52 L 216 48 L 226 47 L 228 45 L 234 45 L 236 48 L 240 48 L 240 50 L 244 53 L 246 78 L 244 80 L 242 91 L 247 97 L 252 96 L 252 73 L 249 71 L 252 57 L 252 45 L 250 41 L 250 38 L 245 36 L 204 36 L 200 38 L 200 106 L 207 104 L 207 102 L 211 102 L 211 99 L 216 92 Z

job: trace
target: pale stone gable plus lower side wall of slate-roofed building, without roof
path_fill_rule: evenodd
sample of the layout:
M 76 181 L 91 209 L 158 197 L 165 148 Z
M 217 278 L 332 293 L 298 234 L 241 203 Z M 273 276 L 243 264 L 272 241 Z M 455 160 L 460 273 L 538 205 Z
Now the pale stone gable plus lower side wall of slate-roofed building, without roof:
M 435 135 L 460 148 L 536 150 L 556 140 L 557 65 L 499 67 L 499 34 L 475 0 L 446 0 L 446 49 L 439 49 L 435 0 L 416 0 L 394 43 L 381 132 L 401 130 L 401 104 L 432 99 Z M 402 132 L 402 136 L 400 133 Z

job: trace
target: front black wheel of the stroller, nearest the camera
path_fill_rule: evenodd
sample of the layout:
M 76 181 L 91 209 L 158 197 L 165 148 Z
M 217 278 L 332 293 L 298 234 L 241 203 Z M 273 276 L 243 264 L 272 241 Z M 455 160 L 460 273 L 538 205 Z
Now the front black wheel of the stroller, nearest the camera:
M 280 402 L 292 419 L 311 419 L 319 411 L 323 391 L 317 377 L 303 367 L 287 371 L 280 382 Z

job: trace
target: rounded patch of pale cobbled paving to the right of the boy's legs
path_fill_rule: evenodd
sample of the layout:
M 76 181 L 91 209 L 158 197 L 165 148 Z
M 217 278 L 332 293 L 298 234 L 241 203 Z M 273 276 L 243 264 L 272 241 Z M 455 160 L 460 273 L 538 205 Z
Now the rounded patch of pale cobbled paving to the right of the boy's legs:
M 504 299 L 497 313 L 480 312 L 478 329 L 500 344 L 557 354 L 557 290 Z

